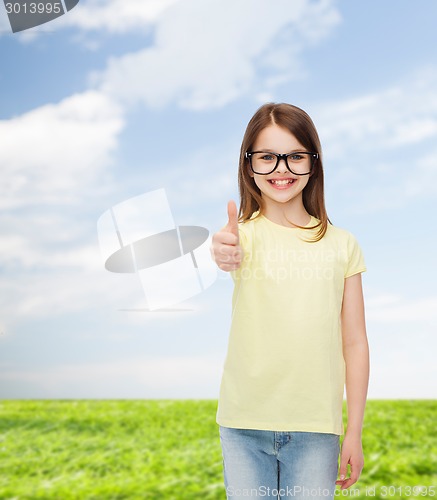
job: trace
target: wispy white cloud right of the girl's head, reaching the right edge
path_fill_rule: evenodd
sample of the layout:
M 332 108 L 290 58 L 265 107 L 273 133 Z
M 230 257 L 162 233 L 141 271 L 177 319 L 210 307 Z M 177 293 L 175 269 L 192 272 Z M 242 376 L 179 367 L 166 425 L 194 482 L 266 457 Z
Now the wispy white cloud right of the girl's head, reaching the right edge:
M 418 71 L 380 92 L 328 102 L 314 116 L 326 150 L 335 156 L 374 156 L 416 147 L 437 135 L 437 70 Z

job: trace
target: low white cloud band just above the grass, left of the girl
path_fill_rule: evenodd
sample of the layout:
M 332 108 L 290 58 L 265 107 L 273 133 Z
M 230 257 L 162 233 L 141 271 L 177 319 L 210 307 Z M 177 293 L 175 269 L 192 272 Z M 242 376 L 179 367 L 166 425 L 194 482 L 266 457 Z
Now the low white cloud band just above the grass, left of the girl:
M 20 370 L 4 365 L 1 397 L 217 397 L 223 361 L 208 357 L 132 358 Z M 108 384 L 108 381 L 111 381 Z M 6 383 L 7 382 L 7 383 Z M 15 387 L 20 387 L 16 389 Z M 6 392 L 7 391 L 7 392 Z

